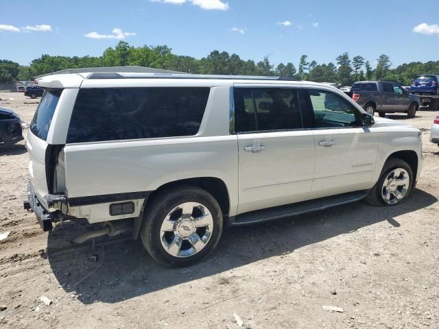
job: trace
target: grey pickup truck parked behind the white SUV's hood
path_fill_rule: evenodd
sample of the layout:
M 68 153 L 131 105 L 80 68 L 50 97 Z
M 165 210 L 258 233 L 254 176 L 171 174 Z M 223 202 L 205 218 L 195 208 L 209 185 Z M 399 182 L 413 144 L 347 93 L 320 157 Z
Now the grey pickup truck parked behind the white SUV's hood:
M 411 95 L 395 82 L 355 82 L 351 96 L 368 114 L 378 112 L 380 117 L 385 117 L 386 113 L 403 112 L 409 118 L 414 118 L 419 108 L 419 97 Z

